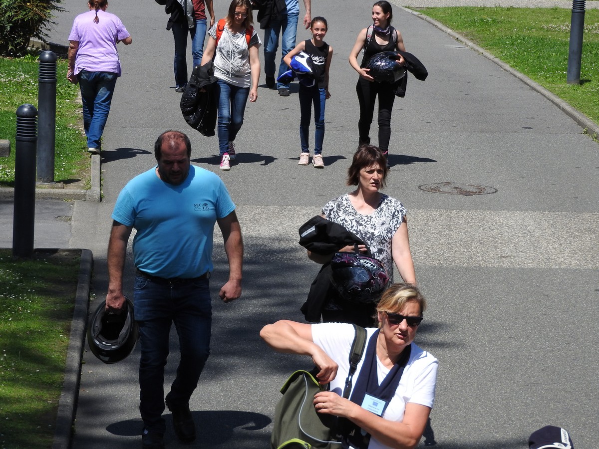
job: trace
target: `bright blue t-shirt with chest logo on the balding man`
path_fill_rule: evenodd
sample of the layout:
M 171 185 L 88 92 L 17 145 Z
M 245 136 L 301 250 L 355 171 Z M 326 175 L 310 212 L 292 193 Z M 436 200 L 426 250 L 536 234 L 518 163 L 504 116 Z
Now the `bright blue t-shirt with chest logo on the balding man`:
M 121 190 L 113 220 L 133 226 L 134 263 L 162 278 L 193 278 L 212 271 L 216 219 L 235 204 L 213 172 L 190 166 L 178 186 L 162 181 L 156 167 L 136 176 Z

